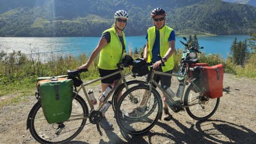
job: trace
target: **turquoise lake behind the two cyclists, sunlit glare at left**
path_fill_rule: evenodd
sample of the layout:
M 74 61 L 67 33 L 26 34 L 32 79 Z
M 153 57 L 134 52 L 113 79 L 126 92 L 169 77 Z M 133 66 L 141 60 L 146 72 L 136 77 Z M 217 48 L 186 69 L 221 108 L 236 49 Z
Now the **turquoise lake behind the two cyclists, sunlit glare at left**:
M 223 58 L 227 58 L 230 46 L 234 38 L 238 41 L 244 41 L 249 38 L 247 35 L 219 35 L 219 36 L 198 36 L 199 46 L 203 46 L 202 52 L 206 54 L 218 53 Z M 26 54 L 42 53 L 49 55 L 57 54 L 73 54 L 78 56 L 81 53 L 90 55 L 97 46 L 100 37 L 0 37 L 0 50 L 6 52 L 21 51 Z M 188 38 L 188 37 L 187 37 Z M 181 36 L 176 37 L 175 48 L 184 49 L 179 42 L 183 41 Z M 128 47 L 140 48 L 146 44 L 145 35 L 142 36 L 126 36 L 126 51 Z

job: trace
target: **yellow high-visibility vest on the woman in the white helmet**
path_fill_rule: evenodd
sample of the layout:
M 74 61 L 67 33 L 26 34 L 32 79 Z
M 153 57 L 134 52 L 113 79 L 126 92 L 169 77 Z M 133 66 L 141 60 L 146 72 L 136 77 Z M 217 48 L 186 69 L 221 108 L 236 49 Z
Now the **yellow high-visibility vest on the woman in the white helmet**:
M 123 47 L 120 39 L 116 33 L 115 27 L 111 27 L 103 33 L 109 31 L 110 33 L 110 43 L 108 43 L 103 49 L 100 51 L 100 58 L 98 67 L 101 69 L 117 69 L 116 64 L 121 61 L 123 58 Z M 102 34 L 103 34 L 102 33 Z M 125 43 L 125 35 L 123 33 L 124 47 L 126 47 Z M 125 48 L 124 48 L 125 49 Z

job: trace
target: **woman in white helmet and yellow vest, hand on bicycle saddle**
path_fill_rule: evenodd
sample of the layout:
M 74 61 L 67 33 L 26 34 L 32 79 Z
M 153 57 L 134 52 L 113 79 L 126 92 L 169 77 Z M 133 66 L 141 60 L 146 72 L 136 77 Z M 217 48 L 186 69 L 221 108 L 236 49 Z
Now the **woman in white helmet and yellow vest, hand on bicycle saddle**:
M 108 74 L 114 73 L 115 71 L 118 70 L 116 64 L 119 61 L 121 61 L 123 57 L 123 52 L 126 47 L 125 35 L 123 30 L 128 20 L 128 13 L 124 10 L 119 10 L 119 11 L 116 11 L 116 13 L 114 14 L 114 17 L 115 17 L 115 23 L 113 27 L 103 31 L 99 44 L 97 45 L 95 50 L 92 52 L 88 61 L 81 67 L 78 67 L 77 69 L 89 68 L 92 61 L 95 59 L 95 57 L 97 57 L 98 53 L 100 52 L 99 63 L 98 63 L 100 76 L 103 77 Z M 121 75 L 117 74 L 117 75 L 102 79 L 101 80 L 102 92 L 104 92 L 109 85 L 115 84 L 120 78 L 121 78 Z M 113 126 L 111 123 L 107 121 L 105 116 L 103 116 L 99 124 L 103 129 L 111 129 L 111 127 Z

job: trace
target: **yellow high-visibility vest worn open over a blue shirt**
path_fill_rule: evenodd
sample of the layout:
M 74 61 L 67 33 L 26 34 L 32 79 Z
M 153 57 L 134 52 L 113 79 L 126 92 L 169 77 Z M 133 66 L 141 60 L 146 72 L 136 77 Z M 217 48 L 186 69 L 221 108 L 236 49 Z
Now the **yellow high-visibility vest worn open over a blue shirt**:
M 168 42 L 168 38 L 172 32 L 172 28 L 164 26 L 162 29 L 159 30 L 159 35 L 160 35 L 160 39 L 159 39 L 159 43 L 160 43 L 160 56 L 164 57 L 164 55 L 166 54 L 166 52 L 169 50 L 169 42 Z M 155 42 L 155 38 L 156 38 L 156 27 L 150 27 L 148 29 L 148 62 L 151 62 L 152 59 L 152 49 L 153 49 L 153 45 Z M 169 71 L 172 70 L 174 67 L 174 61 L 173 61 L 173 54 L 171 55 L 171 57 L 164 63 L 165 66 L 162 67 L 163 72 L 165 71 Z

